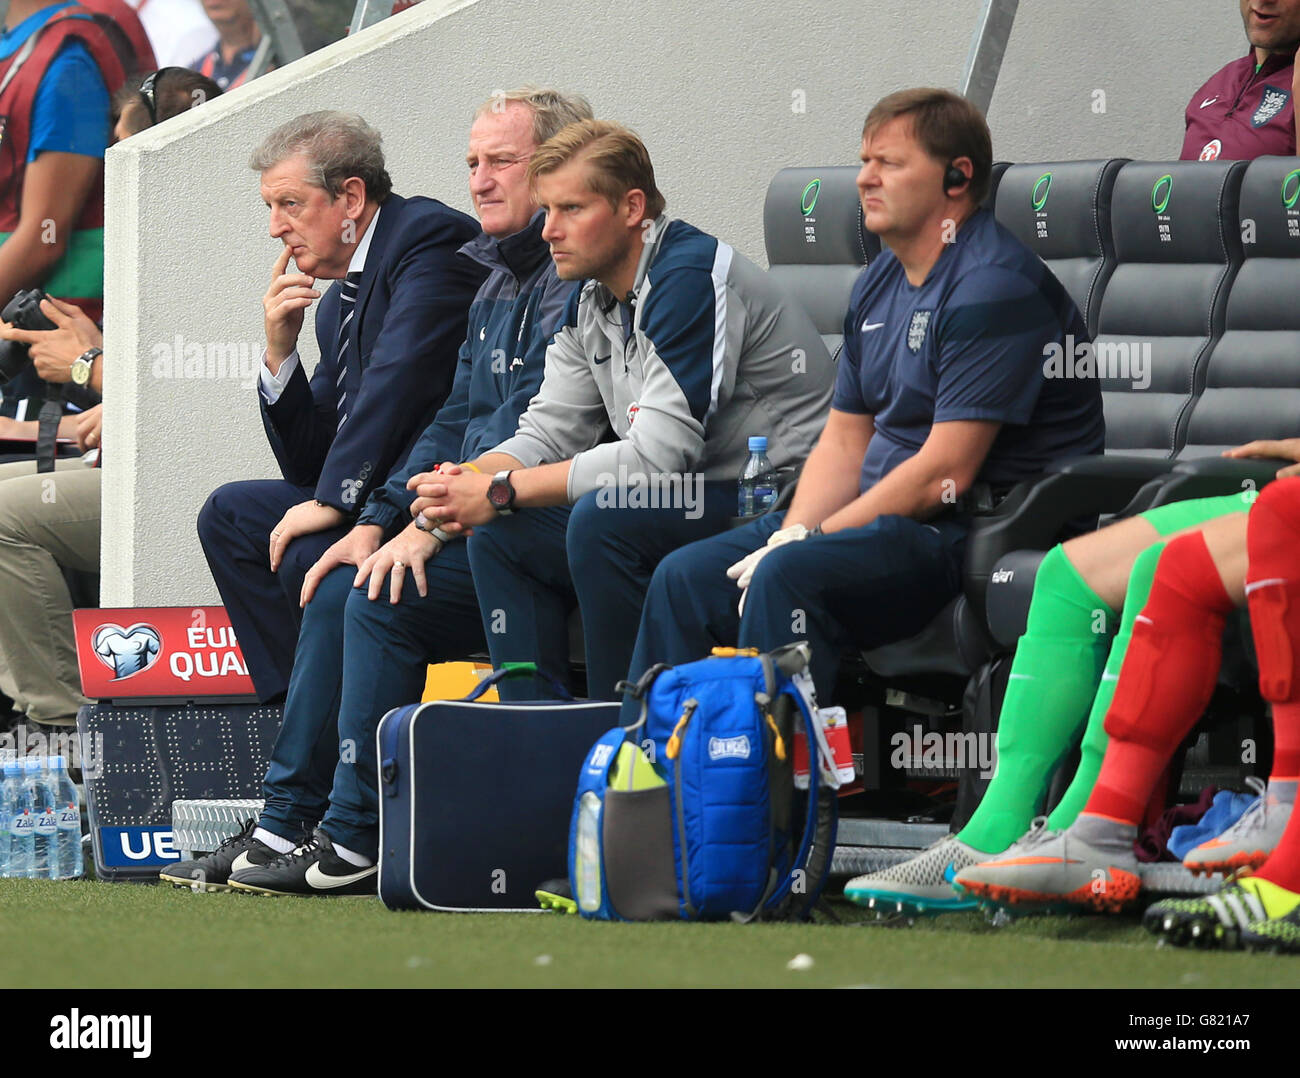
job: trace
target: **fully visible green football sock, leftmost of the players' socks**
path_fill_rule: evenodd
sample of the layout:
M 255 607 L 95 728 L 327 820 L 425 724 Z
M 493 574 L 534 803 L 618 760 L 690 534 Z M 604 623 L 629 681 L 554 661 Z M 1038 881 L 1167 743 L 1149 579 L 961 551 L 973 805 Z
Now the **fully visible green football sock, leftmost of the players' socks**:
M 958 839 L 1001 853 L 1037 814 L 1088 715 L 1115 614 L 1054 546 L 1039 566 L 997 727 L 997 767 Z

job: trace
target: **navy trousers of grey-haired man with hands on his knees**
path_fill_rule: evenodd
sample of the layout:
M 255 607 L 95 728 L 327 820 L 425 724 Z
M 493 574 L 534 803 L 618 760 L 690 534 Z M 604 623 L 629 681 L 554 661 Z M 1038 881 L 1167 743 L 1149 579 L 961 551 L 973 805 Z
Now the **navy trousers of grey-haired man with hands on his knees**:
M 268 831 L 296 841 L 320 823 L 335 843 L 377 856 L 380 719 L 420 700 L 428 663 L 485 646 L 465 545 L 448 544 L 425 572 L 426 597 L 408 572 L 391 603 L 387 586 L 372 601 L 341 566 L 307 605 L 263 784 Z

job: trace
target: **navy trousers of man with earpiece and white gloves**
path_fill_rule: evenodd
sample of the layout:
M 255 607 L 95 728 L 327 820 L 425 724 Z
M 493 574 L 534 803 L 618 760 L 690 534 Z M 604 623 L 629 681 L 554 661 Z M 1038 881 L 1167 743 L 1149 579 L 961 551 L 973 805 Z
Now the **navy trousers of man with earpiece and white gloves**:
M 881 516 L 863 528 L 810 536 L 770 551 L 737 614 L 740 589 L 727 568 L 758 550 L 784 512 L 684 546 L 660 562 L 646 594 L 628 667 L 636 681 L 656 662 L 705 658 L 716 646 L 767 651 L 800 640 L 812 649 L 818 700 L 831 702 L 840 653 L 906 640 L 961 590 L 968 524 Z M 637 719 L 625 700 L 625 724 Z

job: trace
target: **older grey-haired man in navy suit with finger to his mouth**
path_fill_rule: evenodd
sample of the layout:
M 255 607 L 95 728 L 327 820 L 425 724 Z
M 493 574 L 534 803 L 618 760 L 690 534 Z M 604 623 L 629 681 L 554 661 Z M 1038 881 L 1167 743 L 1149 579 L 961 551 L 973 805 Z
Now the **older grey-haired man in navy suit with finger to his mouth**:
M 257 696 L 273 700 L 292 668 L 303 576 L 433 421 L 486 270 L 458 254 L 477 222 L 393 194 L 380 133 L 359 116 L 299 116 L 250 164 L 283 243 L 259 377 L 283 479 L 218 488 L 199 538 Z M 317 280 L 335 282 L 324 298 Z M 308 381 L 298 335 L 316 299 L 321 358 Z

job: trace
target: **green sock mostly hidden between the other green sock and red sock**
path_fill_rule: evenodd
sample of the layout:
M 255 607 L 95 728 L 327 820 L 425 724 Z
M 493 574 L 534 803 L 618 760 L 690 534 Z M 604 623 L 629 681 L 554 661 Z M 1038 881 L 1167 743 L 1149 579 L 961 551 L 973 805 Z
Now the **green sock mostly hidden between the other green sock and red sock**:
M 1141 519 L 1150 524 L 1161 536 L 1171 536 L 1187 528 L 1204 524 L 1206 520 L 1216 520 L 1227 516 L 1230 512 L 1248 512 L 1251 508 L 1253 492 L 1240 494 L 1227 494 L 1218 498 L 1192 498 L 1187 502 L 1171 502 L 1167 506 L 1149 510 L 1140 514 Z M 1101 684 L 1097 687 L 1097 696 L 1092 701 L 1092 710 L 1088 714 L 1088 726 L 1083 733 L 1080 745 L 1079 767 L 1074 772 L 1061 804 L 1057 805 L 1048 817 L 1048 827 L 1052 831 L 1063 831 L 1074 818 L 1083 811 L 1088 804 L 1092 787 L 1097 782 L 1101 771 L 1101 759 L 1106 754 L 1106 711 L 1110 700 L 1115 694 L 1115 681 L 1119 679 L 1119 668 L 1123 666 L 1124 654 L 1128 651 L 1128 640 L 1132 636 L 1134 620 L 1141 614 L 1147 605 L 1147 596 L 1150 593 L 1150 584 L 1156 576 L 1156 562 L 1165 544 L 1154 542 L 1148 546 L 1134 560 L 1134 567 L 1128 573 L 1128 588 L 1124 592 L 1124 610 L 1119 619 L 1119 632 L 1115 633 L 1114 644 L 1110 645 L 1110 654 L 1106 657 L 1106 668 L 1101 675 Z

